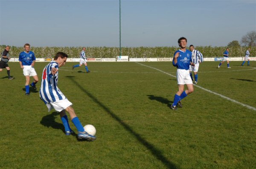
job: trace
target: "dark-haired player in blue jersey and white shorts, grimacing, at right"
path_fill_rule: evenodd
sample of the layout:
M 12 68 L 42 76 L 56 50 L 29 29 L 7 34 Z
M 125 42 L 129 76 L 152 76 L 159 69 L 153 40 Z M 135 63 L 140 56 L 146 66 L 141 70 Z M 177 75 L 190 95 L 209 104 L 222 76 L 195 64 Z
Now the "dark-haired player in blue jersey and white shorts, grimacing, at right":
M 194 91 L 193 82 L 189 75 L 189 65 L 195 66 L 195 64 L 192 62 L 191 51 L 186 50 L 186 43 L 187 39 L 185 37 L 178 39 L 180 50 L 175 51 L 172 60 L 172 65 L 177 67 L 176 76 L 178 84 L 178 91 L 175 94 L 173 104 L 170 107 L 173 110 L 177 109 L 177 105 L 182 107 L 181 100 Z M 187 90 L 184 91 L 185 84 Z

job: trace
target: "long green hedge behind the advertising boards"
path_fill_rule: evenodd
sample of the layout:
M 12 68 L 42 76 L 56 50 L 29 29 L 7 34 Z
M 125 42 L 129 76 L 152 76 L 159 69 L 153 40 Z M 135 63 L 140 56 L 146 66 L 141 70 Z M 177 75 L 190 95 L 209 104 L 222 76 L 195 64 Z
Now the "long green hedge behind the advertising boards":
M 0 46 L 2 52 L 5 45 Z M 65 52 L 72 58 L 78 58 L 82 47 L 31 47 L 31 51 L 35 53 L 37 58 L 52 58 L 57 52 Z M 133 47 L 122 48 L 122 56 L 129 57 L 173 57 L 174 52 L 178 47 Z M 226 47 L 198 46 L 196 47 L 204 57 L 219 57 L 222 56 Z M 230 56 L 245 56 L 247 47 L 230 48 Z M 9 51 L 12 57 L 18 57 L 23 51 L 23 47 L 11 46 Z M 251 56 L 256 55 L 256 47 L 252 47 Z M 115 58 L 119 56 L 119 48 L 116 47 L 87 47 L 86 55 L 95 58 Z

